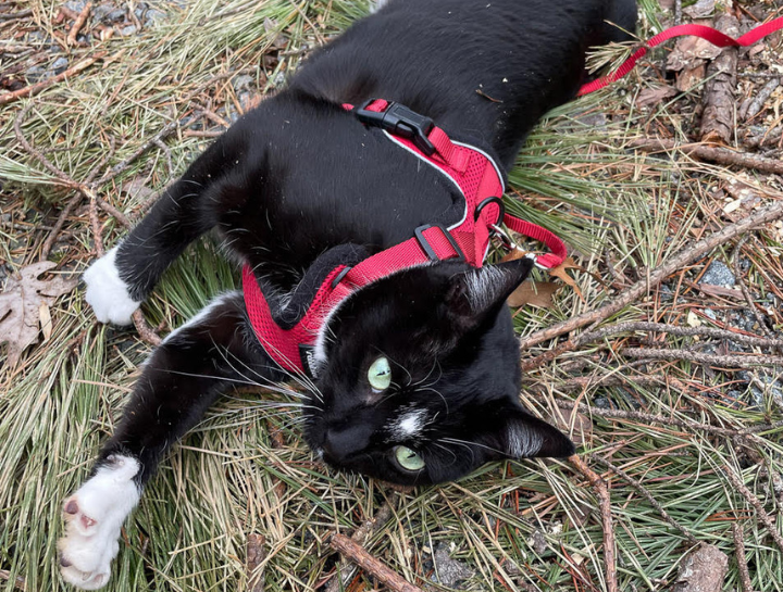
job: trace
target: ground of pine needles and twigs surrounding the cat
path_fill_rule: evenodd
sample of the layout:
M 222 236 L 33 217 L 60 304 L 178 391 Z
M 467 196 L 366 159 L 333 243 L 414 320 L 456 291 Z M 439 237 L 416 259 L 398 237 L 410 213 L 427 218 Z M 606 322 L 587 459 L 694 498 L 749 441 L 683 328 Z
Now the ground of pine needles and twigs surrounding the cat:
M 771 1 L 662 4 L 642 1 L 641 37 L 783 15 Z M 0 315 L 0 587 L 63 588 L 61 501 L 148 342 L 235 270 L 212 241 L 195 245 L 138 331 L 97 325 L 69 282 L 365 10 L 0 2 L 0 305 L 21 299 L 26 315 L 24 339 Z M 149 488 L 110 585 L 357 591 L 388 576 L 374 560 L 400 590 L 783 589 L 782 54 L 780 34 L 729 50 L 670 41 L 557 110 L 519 158 L 509 210 L 562 235 L 574 264 L 519 302 L 522 398 L 581 457 L 391 491 L 314 463 L 284 396 L 237 393 Z M 37 272 L 66 293 L 18 295 Z

